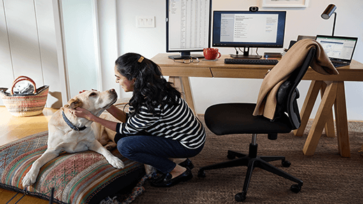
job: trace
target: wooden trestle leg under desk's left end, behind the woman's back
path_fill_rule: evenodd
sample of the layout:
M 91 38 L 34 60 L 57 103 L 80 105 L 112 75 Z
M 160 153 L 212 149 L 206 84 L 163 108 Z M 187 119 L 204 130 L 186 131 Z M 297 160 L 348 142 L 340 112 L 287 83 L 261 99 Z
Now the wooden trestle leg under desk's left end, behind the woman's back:
M 177 90 L 182 93 L 182 97 L 188 103 L 188 106 L 192 109 L 194 114 L 196 114 L 193 95 L 191 93 L 191 84 L 189 82 L 189 78 L 188 77 L 169 77 L 169 81 L 172 82 L 174 84 L 175 88 L 177 88 Z

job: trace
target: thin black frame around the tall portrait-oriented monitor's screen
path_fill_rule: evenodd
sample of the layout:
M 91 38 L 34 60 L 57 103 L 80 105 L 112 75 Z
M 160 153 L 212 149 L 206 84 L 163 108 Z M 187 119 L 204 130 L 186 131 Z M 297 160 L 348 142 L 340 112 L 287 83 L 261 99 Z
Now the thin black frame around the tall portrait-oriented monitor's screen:
M 170 49 L 169 47 L 169 1 L 166 0 L 166 52 L 180 52 L 182 55 L 190 52 L 202 52 L 204 48 L 211 46 L 211 27 L 212 27 L 212 0 L 209 0 L 209 23 L 208 23 L 208 43 L 207 47 L 200 47 L 197 49 L 186 48 L 186 49 Z

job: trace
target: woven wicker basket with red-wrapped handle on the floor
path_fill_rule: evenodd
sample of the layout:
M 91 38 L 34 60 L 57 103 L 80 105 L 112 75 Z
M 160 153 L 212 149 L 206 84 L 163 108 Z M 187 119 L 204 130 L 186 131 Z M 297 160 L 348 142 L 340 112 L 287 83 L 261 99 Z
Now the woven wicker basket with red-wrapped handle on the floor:
M 34 86 L 34 92 L 27 95 L 14 94 L 15 84 L 19 81 L 30 81 Z M 0 95 L 3 99 L 6 109 L 13 116 L 36 116 L 43 112 L 45 103 L 47 102 L 47 96 L 49 86 L 41 86 L 36 88 L 36 83 L 29 77 L 20 76 L 14 80 L 13 86 L 11 86 L 11 93 L 6 93 L 8 88 L 0 88 Z

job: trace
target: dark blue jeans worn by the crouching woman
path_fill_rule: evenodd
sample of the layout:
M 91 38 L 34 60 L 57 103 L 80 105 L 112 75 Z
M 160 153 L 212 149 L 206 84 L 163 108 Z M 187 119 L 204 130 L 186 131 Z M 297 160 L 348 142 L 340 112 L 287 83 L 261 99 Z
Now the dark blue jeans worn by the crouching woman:
M 117 141 L 117 149 L 121 155 L 135 162 L 154 166 L 163 173 L 169 173 L 177 166 L 168 158 L 194 157 L 203 146 L 204 144 L 197 149 L 189 149 L 179 141 L 145 135 L 125 136 Z

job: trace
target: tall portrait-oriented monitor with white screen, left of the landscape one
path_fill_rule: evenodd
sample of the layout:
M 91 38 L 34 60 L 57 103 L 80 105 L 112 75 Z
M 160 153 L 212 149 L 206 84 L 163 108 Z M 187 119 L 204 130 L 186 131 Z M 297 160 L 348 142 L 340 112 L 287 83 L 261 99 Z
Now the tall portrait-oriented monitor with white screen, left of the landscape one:
M 212 0 L 166 0 L 166 52 L 180 52 L 170 58 L 203 58 L 210 47 Z

